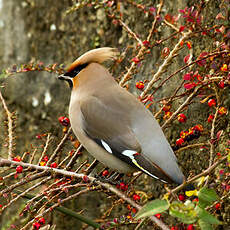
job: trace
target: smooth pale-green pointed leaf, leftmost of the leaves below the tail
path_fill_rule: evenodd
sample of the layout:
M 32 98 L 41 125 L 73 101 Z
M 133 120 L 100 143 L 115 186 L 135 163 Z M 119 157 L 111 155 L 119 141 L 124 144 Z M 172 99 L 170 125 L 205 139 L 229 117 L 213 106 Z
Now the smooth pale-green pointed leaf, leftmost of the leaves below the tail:
M 164 212 L 169 208 L 169 203 L 167 200 L 153 200 L 147 203 L 135 216 L 135 219 L 140 219 L 143 217 L 148 217 L 155 215 L 157 213 Z

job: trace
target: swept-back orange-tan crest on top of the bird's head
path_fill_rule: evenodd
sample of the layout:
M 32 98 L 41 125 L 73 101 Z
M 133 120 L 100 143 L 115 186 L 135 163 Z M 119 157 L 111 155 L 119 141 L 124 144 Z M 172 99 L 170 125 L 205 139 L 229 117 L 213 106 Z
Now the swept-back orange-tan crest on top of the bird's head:
M 103 47 L 98 49 L 93 49 L 85 54 L 81 55 L 77 60 L 75 60 L 68 68 L 68 72 L 75 69 L 79 65 L 86 63 L 97 62 L 102 63 L 109 59 L 114 59 L 118 55 L 118 51 L 115 48 Z

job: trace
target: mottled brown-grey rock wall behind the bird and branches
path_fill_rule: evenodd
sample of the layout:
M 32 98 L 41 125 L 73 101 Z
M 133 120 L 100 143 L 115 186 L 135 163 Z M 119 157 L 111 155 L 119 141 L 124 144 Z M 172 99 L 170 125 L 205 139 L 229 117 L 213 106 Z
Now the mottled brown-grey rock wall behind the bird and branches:
M 55 2 L 55 4 L 54 4 Z M 119 3 L 119 1 L 117 1 Z M 170 1 L 166 3 L 164 11 L 174 14 L 178 9 L 185 7 L 184 1 L 177 1 L 175 7 Z M 173 2 L 173 1 L 172 1 Z M 217 1 L 218 2 L 218 1 Z M 117 4 L 118 4 L 117 3 Z M 217 11 L 219 3 L 213 1 L 208 8 L 210 14 L 212 11 Z M 117 47 L 124 52 L 126 47 L 130 47 L 127 51 L 127 59 L 120 66 L 112 67 L 111 71 L 116 77 L 122 76 L 121 71 L 125 72 L 125 66 L 130 65 L 132 54 L 135 52 L 136 42 L 132 40 L 128 33 L 119 26 L 116 21 L 108 18 L 104 9 L 94 9 L 93 7 L 84 7 L 76 12 L 66 14 L 66 10 L 72 6 L 72 1 L 69 0 L 0 0 L 0 67 L 1 69 L 8 68 L 13 64 L 20 65 L 29 63 L 30 61 L 41 61 L 44 65 L 54 63 L 68 64 L 77 58 L 80 54 L 87 50 L 96 47 L 111 46 Z M 134 7 L 122 8 L 128 18 L 124 18 L 124 22 L 132 28 L 141 39 L 146 38 L 149 29 L 151 28 L 152 20 L 144 17 L 143 12 Z M 209 12 L 206 10 L 207 18 Z M 154 40 L 160 40 L 172 34 L 169 29 L 161 28 L 154 36 Z M 173 41 L 174 42 L 174 41 Z M 173 44 L 172 44 L 173 45 Z M 205 49 L 205 44 L 194 44 L 194 52 L 199 53 L 200 47 Z M 159 59 L 162 46 L 153 50 L 143 63 L 138 67 L 138 72 L 133 74 L 133 79 L 144 80 L 152 77 L 152 72 L 155 72 L 157 67 L 162 63 Z M 129 60 L 128 60 L 129 58 Z M 178 69 L 183 62 L 183 59 L 172 64 L 171 73 Z M 170 73 L 168 73 L 170 74 Z M 164 76 L 164 75 L 163 75 Z M 16 111 L 17 128 L 16 133 L 20 141 L 17 142 L 16 151 L 24 152 L 34 143 L 35 136 L 38 133 L 51 132 L 54 136 L 60 135 L 60 127 L 58 127 L 58 117 L 68 115 L 68 103 L 70 91 L 67 85 L 59 82 L 55 74 L 47 72 L 29 72 L 17 74 L 7 79 L 1 79 L 0 83 L 4 85 L 3 94 L 7 100 L 7 104 L 11 111 Z M 181 76 L 178 76 L 181 78 Z M 175 90 L 178 82 L 174 79 L 167 86 L 159 90 L 155 96 L 162 98 L 171 95 Z M 130 90 L 135 94 L 140 94 L 140 91 L 135 91 L 135 82 L 131 82 Z M 182 99 L 183 100 L 183 99 Z M 181 102 L 174 106 L 178 106 Z M 225 104 L 229 105 L 229 100 L 226 98 Z M 154 108 L 157 109 L 157 108 Z M 203 108 L 202 108 L 203 109 Z M 202 113 L 201 113 L 202 112 Z M 205 119 L 204 111 L 196 104 L 192 110 L 188 110 L 191 126 Z M 0 120 L 4 118 L 0 114 Z M 161 120 L 162 121 L 162 120 Z M 186 125 L 189 127 L 189 125 Z M 172 129 L 167 129 L 166 133 L 170 142 L 175 142 L 178 137 L 178 129 L 183 129 L 183 126 L 175 125 Z M 4 129 L 0 128 L 0 141 L 4 140 Z M 4 148 L 0 146 L 0 151 Z M 192 152 L 192 151 L 191 151 Z M 185 154 L 184 152 L 178 156 L 178 161 L 182 164 L 184 171 L 186 169 L 194 169 L 201 171 L 208 162 L 205 162 L 204 156 L 199 154 Z M 185 172 L 186 174 L 186 172 Z M 147 180 L 147 179 L 146 179 Z M 152 180 L 148 181 L 149 184 Z M 155 182 L 154 182 L 155 183 Z M 161 194 L 162 185 L 158 182 L 153 188 L 149 186 L 153 194 L 158 197 Z M 93 196 L 98 197 L 98 194 Z M 84 208 L 88 199 L 94 200 L 91 204 L 87 204 L 87 208 L 91 211 L 93 218 L 99 217 L 98 211 L 95 209 L 95 197 L 82 198 L 78 203 Z M 97 198 L 98 207 L 101 205 L 101 198 Z M 73 204 L 74 205 L 74 204 Z M 100 206 L 101 211 L 105 207 Z M 9 215 L 13 215 L 12 214 Z M 119 210 L 117 210 L 119 211 Z M 8 219 L 0 217 L 0 227 L 6 228 Z M 56 229 L 71 229 L 71 226 L 76 228 L 76 223 L 71 220 L 66 220 L 65 223 L 58 221 Z M 61 219 L 61 218 L 60 218 Z M 69 226 L 67 227 L 67 224 Z

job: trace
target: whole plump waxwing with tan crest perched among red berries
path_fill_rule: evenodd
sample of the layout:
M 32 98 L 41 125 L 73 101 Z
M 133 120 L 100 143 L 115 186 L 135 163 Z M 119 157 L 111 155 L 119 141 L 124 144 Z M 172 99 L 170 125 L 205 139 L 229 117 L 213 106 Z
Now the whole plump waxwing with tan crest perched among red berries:
M 158 122 L 101 65 L 115 56 L 113 48 L 91 50 L 58 77 L 72 90 L 69 117 L 74 134 L 97 160 L 118 172 L 141 170 L 165 183 L 183 183 Z

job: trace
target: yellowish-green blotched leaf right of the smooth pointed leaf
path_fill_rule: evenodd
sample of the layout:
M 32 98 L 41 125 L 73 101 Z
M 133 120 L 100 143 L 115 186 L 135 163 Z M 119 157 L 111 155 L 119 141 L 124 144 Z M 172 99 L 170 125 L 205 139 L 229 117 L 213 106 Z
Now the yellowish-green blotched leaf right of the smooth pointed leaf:
M 197 213 L 192 203 L 185 205 L 175 201 L 170 205 L 169 214 L 179 218 L 185 224 L 192 224 L 197 221 Z

